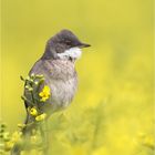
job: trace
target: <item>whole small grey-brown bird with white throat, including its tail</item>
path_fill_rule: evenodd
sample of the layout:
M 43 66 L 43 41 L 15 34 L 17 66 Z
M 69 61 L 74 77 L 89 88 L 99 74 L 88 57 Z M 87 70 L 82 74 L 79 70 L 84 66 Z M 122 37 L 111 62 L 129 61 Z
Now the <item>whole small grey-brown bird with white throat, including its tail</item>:
M 40 113 L 45 113 L 46 118 L 54 112 L 61 111 L 70 105 L 78 87 L 78 73 L 75 71 L 75 62 L 82 54 L 82 48 L 90 46 L 87 43 L 81 42 L 78 37 L 70 30 L 61 30 L 54 37 L 48 40 L 43 55 L 34 63 L 29 72 L 29 76 L 43 75 L 44 81 L 33 92 L 24 86 L 24 104 L 27 108 L 25 127 L 22 128 L 23 138 L 28 142 L 32 131 L 38 128 L 35 123 L 35 108 L 32 107 L 32 102 L 35 101 L 34 94 L 43 95 L 41 92 L 45 86 L 48 97 L 43 103 L 35 103 Z M 29 101 L 29 102 L 28 102 Z M 33 103 L 34 104 L 34 103 Z M 30 112 L 29 107 L 33 111 Z M 32 110 L 31 108 L 31 110 Z M 39 118 L 39 117 L 38 117 Z M 44 134 L 42 135 L 44 136 Z M 46 143 L 48 144 L 48 143 Z M 20 155 L 24 149 L 23 145 L 16 144 L 11 151 L 11 155 Z M 46 155 L 48 149 L 44 149 Z

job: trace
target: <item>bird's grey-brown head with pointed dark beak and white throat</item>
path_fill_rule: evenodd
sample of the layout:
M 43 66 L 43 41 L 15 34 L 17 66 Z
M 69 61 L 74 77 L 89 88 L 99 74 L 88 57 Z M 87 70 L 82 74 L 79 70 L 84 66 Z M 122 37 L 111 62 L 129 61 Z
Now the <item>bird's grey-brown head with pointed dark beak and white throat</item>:
M 46 42 L 43 58 L 76 60 L 81 56 L 81 49 L 87 46 L 90 44 L 81 42 L 70 30 L 62 30 Z

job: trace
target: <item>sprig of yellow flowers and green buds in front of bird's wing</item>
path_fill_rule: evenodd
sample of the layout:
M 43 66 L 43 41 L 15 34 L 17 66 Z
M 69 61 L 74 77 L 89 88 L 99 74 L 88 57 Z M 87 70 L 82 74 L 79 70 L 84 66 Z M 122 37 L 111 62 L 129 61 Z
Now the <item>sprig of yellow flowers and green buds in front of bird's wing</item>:
M 37 122 L 45 120 L 46 114 L 40 110 L 39 104 L 46 104 L 49 97 L 51 96 L 51 90 L 48 85 L 44 85 L 43 75 L 32 73 L 27 79 L 21 76 L 21 80 L 24 81 L 27 94 L 30 96 L 29 99 L 27 96 L 22 96 L 22 100 L 29 104 L 29 114 L 33 116 Z M 41 90 L 40 87 L 42 87 L 42 85 L 43 89 Z

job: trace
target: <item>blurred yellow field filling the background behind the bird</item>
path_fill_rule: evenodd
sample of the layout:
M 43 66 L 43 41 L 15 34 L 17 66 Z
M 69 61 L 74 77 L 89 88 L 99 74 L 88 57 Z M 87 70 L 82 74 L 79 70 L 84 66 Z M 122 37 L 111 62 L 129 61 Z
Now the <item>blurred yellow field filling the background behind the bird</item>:
M 25 116 L 19 76 L 65 28 L 92 46 L 76 63 L 72 105 L 51 118 L 51 154 L 153 155 L 153 0 L 2 0 L 1 8 L 1 118 L 10 131 Z

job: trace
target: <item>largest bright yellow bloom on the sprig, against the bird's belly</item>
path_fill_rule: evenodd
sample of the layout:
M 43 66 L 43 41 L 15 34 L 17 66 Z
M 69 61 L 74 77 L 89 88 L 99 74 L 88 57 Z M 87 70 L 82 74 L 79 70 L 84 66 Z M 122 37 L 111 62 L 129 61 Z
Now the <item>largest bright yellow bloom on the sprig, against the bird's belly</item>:
M 50 87 L 44 85 L 42 91 L 39 93 L 39 96 L 41 96 L 40 101 L 45 102 L 50 97 Z

